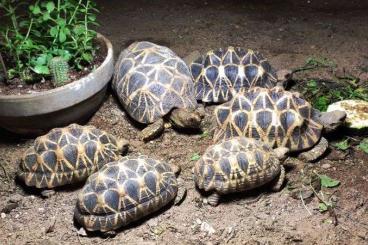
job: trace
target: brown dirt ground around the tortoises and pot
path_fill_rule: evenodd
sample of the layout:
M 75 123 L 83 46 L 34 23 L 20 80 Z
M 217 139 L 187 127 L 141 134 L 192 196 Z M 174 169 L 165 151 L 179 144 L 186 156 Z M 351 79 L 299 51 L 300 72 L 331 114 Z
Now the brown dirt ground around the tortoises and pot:
M 336 62 L 338 72 L 367 77 L 368 3 L 366 1 L 98 1 L 98 30 L 112 41 L 116 56 L 134 40 L 149 40 L 179 56 L 193 50 L 235 45 L 261 51 L 279 68 L 304 64 L 311 56 Z M 298 79 L 331 79 L 327 71 Z M 210 120 L 213 107 L 206 109 Z M 368 157 L 357 147 L 344 153 L 330 148 L 313 164 L 288 168 L 288 183 L 277 193 L 257 190 L 235 195 L 218 207 L 202 204 L 191 179 L 194 153 L 202 154 L 209 137 L 167 129 L 150 143 L 110 94 L 88 124 L 130 141 L 128 154 L 143 153 L 182 166 L 188 195 L 114 237 L 78 235 L 73 208 L 81 185 L 49 199 L 14 182 L 19 156 L 32 140 L 0 135 L 0 244 L 368 244 Z M 336 132 L 333 137 L 343 134 Z M 336 207 L 320 213 L 319 200 L 292 197 L 292 183 L 316 171 L 341 184 L 323 190 Z M 254 200 L 260 193 L 260 199 Z M 330 196 L 327 200 L 327 196 Z M 252 201 L 253 200 L 253 201 Z M 5 209 L 4 209 L 5 208 Z M 6 210 L 8 209 L 8 210 Z

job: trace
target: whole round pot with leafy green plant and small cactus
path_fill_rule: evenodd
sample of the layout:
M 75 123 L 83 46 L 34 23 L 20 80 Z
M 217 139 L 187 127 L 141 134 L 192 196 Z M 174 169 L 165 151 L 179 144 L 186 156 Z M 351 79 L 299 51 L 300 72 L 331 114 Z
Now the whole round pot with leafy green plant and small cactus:
M 88 119 L 113 74 L 112 45 L 91 29 L 97 25 L 95 4 L 20 2 L 0 0 L 6 17 L 0 35 L 0 127 L 41 134 Z

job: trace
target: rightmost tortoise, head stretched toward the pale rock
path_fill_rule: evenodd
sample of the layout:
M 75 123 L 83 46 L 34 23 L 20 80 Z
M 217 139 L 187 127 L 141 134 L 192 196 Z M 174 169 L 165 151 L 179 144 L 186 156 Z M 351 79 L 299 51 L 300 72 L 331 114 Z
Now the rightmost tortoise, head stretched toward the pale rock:
M 260 139 L 271 147 L 301 152 L 300 158 L 314 161 L 328 147 L 323 130 L 331 132 L 346 117 L 343 111 L 320 112 L 298 92 L 254 87 L 215 108 L 214 142 L 235 136 Z

